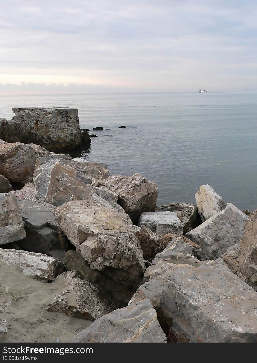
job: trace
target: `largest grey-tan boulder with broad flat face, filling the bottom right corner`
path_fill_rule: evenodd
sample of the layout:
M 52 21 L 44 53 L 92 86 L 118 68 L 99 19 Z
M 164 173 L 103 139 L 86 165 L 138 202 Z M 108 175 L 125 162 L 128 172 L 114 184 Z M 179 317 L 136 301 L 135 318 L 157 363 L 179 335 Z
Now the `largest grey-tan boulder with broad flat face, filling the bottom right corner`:
M 257 342 L 257 293 L 227 266 L 163 264 L 130 303 L 145 298 L 173 342 Z

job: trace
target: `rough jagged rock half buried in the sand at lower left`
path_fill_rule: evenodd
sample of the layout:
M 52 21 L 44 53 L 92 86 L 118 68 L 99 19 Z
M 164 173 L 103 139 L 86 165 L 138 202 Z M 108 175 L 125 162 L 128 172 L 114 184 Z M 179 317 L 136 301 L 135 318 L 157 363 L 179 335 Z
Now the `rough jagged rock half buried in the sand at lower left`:
M 82 280 L 76 271 L 63 272 L 52 284 L 65 285 L 54 297 L 47 311 L 64 313 L 75 318 L 95 320 L 108 314 L 111 309 L 104 302 L 98 289 L 89 281 Z

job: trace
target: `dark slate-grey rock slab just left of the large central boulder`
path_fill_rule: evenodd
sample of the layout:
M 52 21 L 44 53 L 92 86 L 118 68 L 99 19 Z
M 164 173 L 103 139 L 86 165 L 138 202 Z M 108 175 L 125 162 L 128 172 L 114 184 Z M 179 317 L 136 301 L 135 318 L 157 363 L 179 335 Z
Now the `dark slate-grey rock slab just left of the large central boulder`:
M 21 249 L 49 254 L 53 249 L 65 249 L 66 240 L 53 209 L 33 200 L 19 199 L 26 237 L 19 242 Z

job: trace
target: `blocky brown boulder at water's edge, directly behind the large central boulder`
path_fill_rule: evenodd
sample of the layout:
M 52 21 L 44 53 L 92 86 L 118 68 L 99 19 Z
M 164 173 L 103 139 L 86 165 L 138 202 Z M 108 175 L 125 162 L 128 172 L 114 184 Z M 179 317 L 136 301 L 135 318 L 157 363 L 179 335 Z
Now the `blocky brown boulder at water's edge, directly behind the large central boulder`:
M 132 176 L 113 175 L 101 180 L 99 186 L 105 187 L 119 196 L 118 203 L 129 215 L 133 224 L 143 212 L 155 210 L 158 194 L 157 184 L 140 174 Z

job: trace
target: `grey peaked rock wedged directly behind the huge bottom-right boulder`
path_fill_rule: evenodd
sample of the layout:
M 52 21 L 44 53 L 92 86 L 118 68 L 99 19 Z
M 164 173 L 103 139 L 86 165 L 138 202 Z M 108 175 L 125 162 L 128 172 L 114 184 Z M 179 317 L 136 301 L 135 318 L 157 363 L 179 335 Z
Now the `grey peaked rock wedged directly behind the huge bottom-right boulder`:
M 152 264 L 146 269 L 144 282 L 148 281 L 150 276 L 167 262 L 175 265 L 187 264 L 192 266 L 206 265 L 212 262 L 199 261 L 196 258 L 196 254 L 201 251 L 201 248 L 185 236 L 169 233 L 162 237 L 160 244 L 166 247 L 162 252 L 156 254 Z

